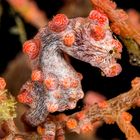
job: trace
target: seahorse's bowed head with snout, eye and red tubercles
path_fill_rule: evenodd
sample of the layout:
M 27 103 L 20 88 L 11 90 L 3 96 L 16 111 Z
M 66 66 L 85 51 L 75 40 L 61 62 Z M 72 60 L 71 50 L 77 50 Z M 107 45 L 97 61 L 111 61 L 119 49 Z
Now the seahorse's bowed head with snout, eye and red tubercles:
M 92 10 L 87 18 L 74 19 L 58 14 L 48 27 L 61 36 L 60 48 L 67 54 L 100 68 L 107 77 L 121 72 L 116 59 L 121 58 L 122 45 L 113 38 L 104 13 Z

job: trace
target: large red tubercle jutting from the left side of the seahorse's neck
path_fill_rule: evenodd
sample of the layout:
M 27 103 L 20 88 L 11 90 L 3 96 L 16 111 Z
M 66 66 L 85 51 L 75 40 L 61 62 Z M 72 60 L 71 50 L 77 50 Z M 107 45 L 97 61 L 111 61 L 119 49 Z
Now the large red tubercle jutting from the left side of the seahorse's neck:
M 38 56 L 40 50 L 39 42 L 38 39 L 33 39 L 23 44 L 23 52 L 26 53 L 30 59 L 35 59 Z

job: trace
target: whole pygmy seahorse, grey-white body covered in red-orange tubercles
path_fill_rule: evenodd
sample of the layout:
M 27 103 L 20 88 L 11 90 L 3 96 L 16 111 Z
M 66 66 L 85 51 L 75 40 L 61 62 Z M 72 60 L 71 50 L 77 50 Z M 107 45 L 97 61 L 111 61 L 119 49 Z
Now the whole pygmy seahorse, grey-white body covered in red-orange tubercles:
M 26 121 L 36 126 L 48 113 L 73 109 L 83 98 L 81 75 L 65 60 L 64 52 L 113 77 L 121 72 L 116 62 L 121 51 L 104 13 L 93 10 L 87 18 L 74 19 L 56 15 L 23 45 L 33 69 L 31 81 L 23 85 L 18 95 L 19 101 L 30 107 Z

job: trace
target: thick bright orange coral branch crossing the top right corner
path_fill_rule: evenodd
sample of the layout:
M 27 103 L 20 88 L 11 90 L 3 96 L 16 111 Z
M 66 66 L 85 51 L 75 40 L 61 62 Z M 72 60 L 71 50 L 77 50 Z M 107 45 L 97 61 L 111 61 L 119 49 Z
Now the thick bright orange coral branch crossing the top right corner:
M 117 9 L 116 4 L 111 0 L 91 0 L 91 2 L 107 14 L 121 36 L 134 39 L 140 45 L 140 33 L 133 28 L 125 11 Z

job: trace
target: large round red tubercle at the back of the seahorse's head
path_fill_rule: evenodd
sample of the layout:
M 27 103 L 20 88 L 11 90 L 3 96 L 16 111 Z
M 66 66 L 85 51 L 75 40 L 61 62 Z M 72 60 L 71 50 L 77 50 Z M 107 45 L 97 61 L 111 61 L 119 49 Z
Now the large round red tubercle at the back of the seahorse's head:
M 66 29 L 69 19 L 64 14 L 57 14 L 52 21 L 48 23 L 48 27 L 54 32 L 61 32 Z

